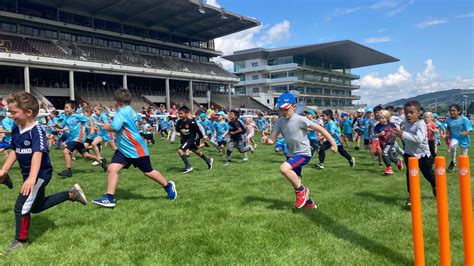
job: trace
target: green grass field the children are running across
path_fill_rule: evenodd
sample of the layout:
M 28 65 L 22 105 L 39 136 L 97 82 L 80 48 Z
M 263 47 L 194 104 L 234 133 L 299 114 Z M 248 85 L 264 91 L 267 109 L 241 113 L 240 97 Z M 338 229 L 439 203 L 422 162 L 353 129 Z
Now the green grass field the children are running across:
M 349 149 L 355 169 L 338 154 L 329 154 L 325 170 L 313 159 L 303 170 L 304 184 L 319 204 L 295 210 L 294 192 L 279 173 L 282 154 L 259 145 L 248 162 L 240 155 L 223 166 L 214 149 L 215 168 L 194 155 L 194 171 L 183 175 L 177 144 L 158 141 L 150 147 L 154 167 L 176 182 L 178 199 L 137 169 L 121 172 L 117 207 L 64 203 L 32 215 L 30 245 L 0 257 L 0 264 L 413 264 L 410 211 L 404 172 L 383 176 L 383 168 L 365 151 Z M 445 146 L 441 155 L 447 156 Z M 107 148 L 106 157 L 112 153 Z M 54 172 L 64 168 L 53 150 Z M 449 161 L 449 159 L 447 159 Z M 0 160 L 3 162 L 3 160 Z M 471 165 L 473 164 L 471 160 Z M 471 167 L 472 169 L 472 167 Z M 78 159 L 74 176 L 54 177 L 47 193 L 79 182 L 88 200 L 102 196 L 106 175 Z M 472 170 L 471 170 L 472 171 Z M 11 171 L 15 189 L 0 187 L 0 246 L 14 236 L 13 205 L 21 187 L 17 164 Z M 422 178 L 427 265 L 439 263 L 436 201 Z M 463 264 L 459 182 L 448 174 L 452 264 Z

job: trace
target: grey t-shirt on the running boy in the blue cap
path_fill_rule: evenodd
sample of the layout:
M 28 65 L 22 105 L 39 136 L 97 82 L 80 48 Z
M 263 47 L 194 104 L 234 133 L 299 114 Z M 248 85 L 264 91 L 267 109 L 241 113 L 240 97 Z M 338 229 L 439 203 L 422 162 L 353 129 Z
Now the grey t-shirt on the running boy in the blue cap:
M 293 114 L 289 119 L 280 117 L 273 126 L 273 132 L 282 134 L 288 146 L 288 155 L 301 154 L 311 156 L 311 146 L 309 145 L 308 127 L 311 121 L 298 114 Z

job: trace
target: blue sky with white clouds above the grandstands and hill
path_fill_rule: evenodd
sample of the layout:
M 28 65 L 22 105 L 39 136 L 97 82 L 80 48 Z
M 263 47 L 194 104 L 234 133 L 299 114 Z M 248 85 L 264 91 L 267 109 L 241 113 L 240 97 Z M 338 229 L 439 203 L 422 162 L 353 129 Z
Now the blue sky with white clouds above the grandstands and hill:
M 350 39 L 400 62 L 355 69 L 361 102 L 474 88 L 474 1 L 208 0 L 262 26 L 216 40 L 225 54 Z M 224 66 L 229 66 L 226 62 Z

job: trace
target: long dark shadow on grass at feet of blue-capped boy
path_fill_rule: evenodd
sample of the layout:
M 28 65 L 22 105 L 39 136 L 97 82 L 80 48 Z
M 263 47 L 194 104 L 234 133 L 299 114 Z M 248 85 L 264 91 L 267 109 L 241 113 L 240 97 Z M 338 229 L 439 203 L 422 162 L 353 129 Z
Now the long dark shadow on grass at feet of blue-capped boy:
M 288 206 L 292 206 L 290 202 L 266 199 L 261 197 L 246 197 L 244 203 L 249 204 L 252 202 L 263 202 L 270 204 L 267 208 L 269 209 L 288 209 Z M 349 241 L 359 247 L 369 251 L 370 253 L 377 254 L 378 256 L 385 257 L 387 260 L 395 264 L 413 264 L 411 259 L 404 257 L 402 254 L 380 244 L 376 241 L 367 238 L 364 235 L 354 232 L 347 228 L 345 225 L 338 223 L 330 216 L 315 210 L 294 210 L 294 213 L 301 213 L 306 216 L 313 223 L 320 225 L 324 230 L 331 233 L 339 239 Z

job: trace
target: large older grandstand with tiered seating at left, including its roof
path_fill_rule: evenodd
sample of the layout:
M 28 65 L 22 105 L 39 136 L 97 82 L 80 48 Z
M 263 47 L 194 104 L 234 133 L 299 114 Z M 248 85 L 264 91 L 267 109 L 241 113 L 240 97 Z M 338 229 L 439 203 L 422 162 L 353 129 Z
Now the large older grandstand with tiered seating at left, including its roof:
M 125 87 L 135 108 L 228 108 L 239 80 L 211 61 L 214 39 L 259 24 L 202 0 L 0 1 L 0 96 L 110 106 Z

